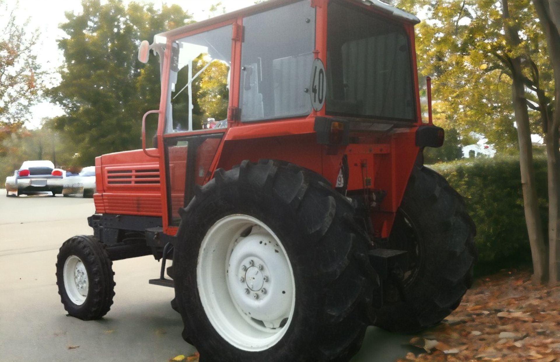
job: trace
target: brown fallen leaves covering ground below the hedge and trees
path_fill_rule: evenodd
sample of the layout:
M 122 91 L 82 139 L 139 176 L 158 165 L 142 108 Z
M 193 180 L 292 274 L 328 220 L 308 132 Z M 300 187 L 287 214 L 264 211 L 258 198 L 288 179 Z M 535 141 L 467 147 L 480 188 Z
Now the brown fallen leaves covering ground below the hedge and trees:
M 478 279 L 438 326 L 413 337 L 407 361 L 560 362 L 560 286 L 535 286 L 527 270 Z

